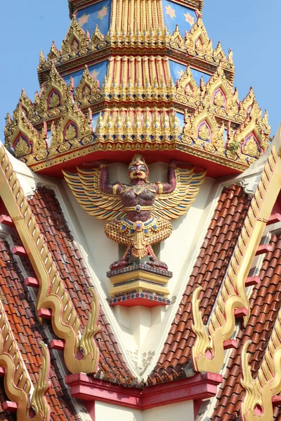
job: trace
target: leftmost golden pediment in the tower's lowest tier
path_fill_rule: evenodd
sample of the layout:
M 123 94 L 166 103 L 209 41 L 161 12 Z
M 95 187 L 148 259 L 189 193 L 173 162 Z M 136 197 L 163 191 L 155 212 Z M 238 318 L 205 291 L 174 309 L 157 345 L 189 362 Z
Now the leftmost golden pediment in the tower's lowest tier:
M 27 119 L 21 105 L 13 112 L 13 119 L 7 114 L 5 133 L 5 146 L 11 145 L 15 149 L 15 157 L 22 157 L 37 152 L 46 147 L 46 125 L 41 135 Z

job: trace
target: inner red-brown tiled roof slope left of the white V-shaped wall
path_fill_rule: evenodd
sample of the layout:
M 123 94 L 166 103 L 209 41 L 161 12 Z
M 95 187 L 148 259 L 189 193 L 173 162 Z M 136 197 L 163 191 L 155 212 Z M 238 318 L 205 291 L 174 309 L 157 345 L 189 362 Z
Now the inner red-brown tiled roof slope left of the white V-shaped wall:
M 88 287 L 93 285 L 55 193 L 39 187 L 30 199 L 30 205 L 81 323 L 86 325 L 91 302 Z M 103 372 L 103 379 L 136 385 L 137 381 L 126 366 L 103 309 L 100 309 L 99 323 L 100 332 L 95 339 L 100 349 L 99 370 Z

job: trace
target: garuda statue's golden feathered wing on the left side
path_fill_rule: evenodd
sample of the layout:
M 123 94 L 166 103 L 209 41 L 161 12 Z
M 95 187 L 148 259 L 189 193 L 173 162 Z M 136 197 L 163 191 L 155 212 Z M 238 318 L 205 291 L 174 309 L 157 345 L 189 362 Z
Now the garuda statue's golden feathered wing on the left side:
M 63 171 L 72 193 L 90 215 L 100 220 L 112 220 L 126 214 L 119 196 L 100 189 L 100 168 L 77 167 L 77 173 Z

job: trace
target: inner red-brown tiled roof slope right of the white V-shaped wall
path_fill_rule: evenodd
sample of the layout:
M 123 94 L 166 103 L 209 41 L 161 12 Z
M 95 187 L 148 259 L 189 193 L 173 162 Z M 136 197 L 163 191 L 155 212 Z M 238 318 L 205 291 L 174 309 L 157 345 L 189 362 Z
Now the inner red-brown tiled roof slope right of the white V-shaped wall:
M 226 275 L 250 203 L 251 199 L 242 187 L 232 185 L 223 189 L 168 338 L 150 375 L 150 384 L 158 376 L 163 376 L 164 381 L 165 370 L 168 374 L 175 370 L 180 376 L 189 363 L 191 348 L 195 342 L 191 329 L 192 292 L 198 286 L 202 287 L 201 311 L 206 323 Z

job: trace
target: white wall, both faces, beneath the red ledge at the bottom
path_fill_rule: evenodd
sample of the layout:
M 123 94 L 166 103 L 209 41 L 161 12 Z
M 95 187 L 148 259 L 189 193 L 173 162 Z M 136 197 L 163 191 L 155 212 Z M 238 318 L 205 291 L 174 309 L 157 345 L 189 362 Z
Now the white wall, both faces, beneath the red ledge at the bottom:
M 96 401 L 95 421 L 193 421 L 193 401 L 179 402 L 147 410 Z

